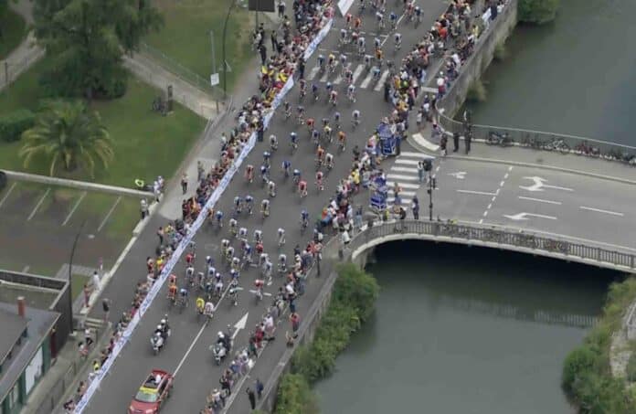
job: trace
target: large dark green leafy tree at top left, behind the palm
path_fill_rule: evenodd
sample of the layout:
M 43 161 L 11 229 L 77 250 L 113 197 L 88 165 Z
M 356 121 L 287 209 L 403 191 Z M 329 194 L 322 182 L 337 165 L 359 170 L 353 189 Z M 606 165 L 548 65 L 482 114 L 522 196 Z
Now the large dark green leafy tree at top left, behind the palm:
M 36 36 L 54 61 L 42 78 L 51 94 L 115 98 L 126 89 L 122 54 L 163 24 L 146 0 L 36 0 Z

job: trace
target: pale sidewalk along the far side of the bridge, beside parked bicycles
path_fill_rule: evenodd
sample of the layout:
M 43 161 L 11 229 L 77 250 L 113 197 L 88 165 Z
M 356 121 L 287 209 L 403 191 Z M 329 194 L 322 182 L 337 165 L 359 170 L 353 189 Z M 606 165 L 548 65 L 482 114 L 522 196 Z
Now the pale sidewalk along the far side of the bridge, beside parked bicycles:
M 408 135 L 408 143 L 424 153 L 441 156 L 439 141 L 434 142 L 431 140 L 430 133 L 431 125 L 427 122 L 419 133 L 414 132 Z M 463 137 L 460 138 L 460 150 L 457 153 L 453 153 L 452 136 L 448 137 L 447 149 L 448 155 L 446 158 L 449 159 L 547 168 L 568 174 L 596 176 L 636 185 L 634 168 L 617 161 L 577 154 L 560 154 L 558 152 L 534 150 L 520 146 L 501 147 L 483 143 L 482 140 L 473 140 L 471 152 L 466 154 Z

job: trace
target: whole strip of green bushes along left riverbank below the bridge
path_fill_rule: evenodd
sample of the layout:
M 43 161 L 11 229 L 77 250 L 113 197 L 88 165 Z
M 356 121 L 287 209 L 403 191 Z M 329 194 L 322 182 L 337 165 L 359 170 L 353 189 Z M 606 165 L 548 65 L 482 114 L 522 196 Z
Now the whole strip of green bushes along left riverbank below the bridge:
M 340 265 L 337 272 L 331 302 L 313 342 L 296 349 L 292 372 L 281 379 L 274 411 L 277 414 L 318 412 L 311 386 L 333 372 L 336 357 L 375 309 L 380 288 L 372 275 L 353 263 Z

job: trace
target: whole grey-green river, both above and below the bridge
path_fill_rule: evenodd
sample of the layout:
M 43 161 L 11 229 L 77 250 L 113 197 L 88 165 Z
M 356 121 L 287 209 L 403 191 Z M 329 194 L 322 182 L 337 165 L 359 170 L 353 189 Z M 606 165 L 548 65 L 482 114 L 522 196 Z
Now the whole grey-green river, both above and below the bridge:
M 474 122 L 636 145 L 636 2 L 561 4 L 555 22 L 515 29 Z M 572 412 L 561 367 L 588 328 L 530 315 L 598 315 L 614 273 L 414 242 L 376 260 L 376 314 L 316 385 L 324 413 Z

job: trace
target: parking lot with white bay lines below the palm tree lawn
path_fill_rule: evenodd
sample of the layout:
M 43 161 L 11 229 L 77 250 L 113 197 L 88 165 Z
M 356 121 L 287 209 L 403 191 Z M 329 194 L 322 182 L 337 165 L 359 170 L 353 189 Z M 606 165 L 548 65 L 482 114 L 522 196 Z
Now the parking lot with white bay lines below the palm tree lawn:
M 0 192 L 0 268 L 56 276 L 69 263 L 111 267 L 132 237 L 139 199 L 9 182 Z

